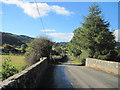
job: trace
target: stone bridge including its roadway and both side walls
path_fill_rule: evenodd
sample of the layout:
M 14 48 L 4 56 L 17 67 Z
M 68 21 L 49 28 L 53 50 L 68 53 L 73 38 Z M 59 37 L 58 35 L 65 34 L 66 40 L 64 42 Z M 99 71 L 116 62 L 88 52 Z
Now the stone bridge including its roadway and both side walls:
M 119 75 L 115 74 L 116 70 L 113 69 L 112 71 L 115 73 L 111 74 L 101 70 L 92 69 L 88 67 L 92 64 L 91 62 L 87 61 L 86 63 L 87 66 L 79 66 L 74 64 L 69 59 L 69 57 L 67 57 L 65 59 L 65 62 L 62 64 L 50 64 L 47 58 L 43 58 L 42 61 L 39 61 L 38 63 L 25 69 L 24 71 L 15 74 L 14 76 L 8 78 L 7 80 L 1 82 L 0 84 L 1 89 L 4 88 L 71 88 L 71 89 L 109 88 L 110 89 L 111 88 L 118 90 L 120 86 L 119 85 L 120 78 Z M 94 63 L 96 62 L 97 61 L 94 61 Z M 100 63 L 103 62 L 100 61 Z M 110 63 L 108 65 L 110 65 Z M 110 66 L 114 68 L 115 64 L 114 62 L 112 62 L 112 65 Z M 117 63 L 117 65 L 119 65 L 119 63 Z M 117 67 L 117 65 L 115 67 Z

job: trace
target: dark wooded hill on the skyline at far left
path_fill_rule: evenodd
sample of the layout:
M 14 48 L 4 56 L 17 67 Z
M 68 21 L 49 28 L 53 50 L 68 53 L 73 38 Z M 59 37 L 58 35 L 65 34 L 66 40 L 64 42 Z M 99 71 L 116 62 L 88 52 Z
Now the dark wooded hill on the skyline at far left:
M 16 35 L 12 33 L 5 33 L 0 32 L 0 35 L 2 33 L 2 45 L 3 44 L 10 44 L 13 46 L 21 46 L 22 44 L 29 43 L 34 38 L 25 36 L 25 35 Z

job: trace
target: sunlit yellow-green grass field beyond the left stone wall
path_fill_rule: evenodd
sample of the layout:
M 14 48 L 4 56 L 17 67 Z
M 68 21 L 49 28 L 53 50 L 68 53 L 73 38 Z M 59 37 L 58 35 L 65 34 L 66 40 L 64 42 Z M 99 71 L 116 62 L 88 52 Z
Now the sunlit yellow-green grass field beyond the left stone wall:
M 22 71 L 25 67 L 25 57 L 24 56 L 11 56 L 11 55 L 0 55 L 1 59 L 0 61 L 4 62 L 6 58 L 11 59 L 11 64 L 14 65 L 19 71 Z M 1 69 L 1 68 L 0 68 Z

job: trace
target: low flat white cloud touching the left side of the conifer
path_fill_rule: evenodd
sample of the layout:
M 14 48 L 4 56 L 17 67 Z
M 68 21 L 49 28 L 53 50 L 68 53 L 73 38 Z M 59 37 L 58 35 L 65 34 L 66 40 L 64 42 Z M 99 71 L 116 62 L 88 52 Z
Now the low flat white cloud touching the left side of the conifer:
M 45 33 L 45 34 L 48 36 L 66 40 L 71 40 L 73 37 L 73 33 Z

